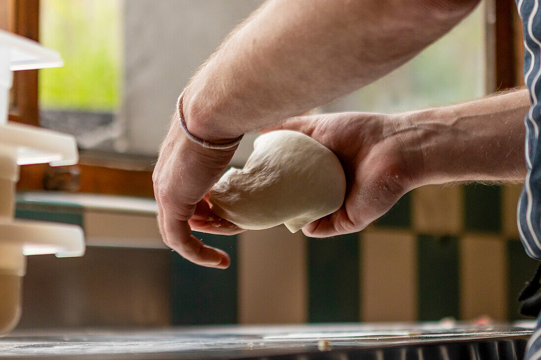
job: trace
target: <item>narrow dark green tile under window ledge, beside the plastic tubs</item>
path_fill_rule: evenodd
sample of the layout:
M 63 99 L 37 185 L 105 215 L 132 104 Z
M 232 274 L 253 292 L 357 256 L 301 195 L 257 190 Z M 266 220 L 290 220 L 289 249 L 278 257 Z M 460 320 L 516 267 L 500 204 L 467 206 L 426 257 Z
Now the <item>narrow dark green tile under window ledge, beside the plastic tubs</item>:
M 15 217 L 83 226 L 83 207 L 77 204 L 17 203 Z

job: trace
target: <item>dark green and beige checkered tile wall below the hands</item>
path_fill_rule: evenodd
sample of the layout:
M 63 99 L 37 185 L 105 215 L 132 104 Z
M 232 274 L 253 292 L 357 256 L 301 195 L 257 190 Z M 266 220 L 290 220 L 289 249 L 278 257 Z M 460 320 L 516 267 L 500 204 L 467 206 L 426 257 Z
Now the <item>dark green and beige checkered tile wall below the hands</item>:
M 128 256 L 128 249 L 116 249 L 124 270 L 138 262 L 143 269 L 131 280 L 129 271 L 123 271 L 117 286 L 136 278 L 146 284 L 143 288 L 169 283 L 167 291 L 144 296 L 168 303 L 173 324 L 430 321 L 481 315 L 517 319 L 516 297 L 537 265 L 518 240 L 519 192 L 519 185 L 425 186 L 407 194 L 366 230 L 327 239 L 291 234 L 283 226 L 237 236 L 197 234 L 232 256 L 227 270 L 201 268 L 167 250 L 137 250 L 154 251 L 154 268 L 161 264 L 170 269 L 170 274 L 151 270 L 153 276 L 142 277 L 148 265 L 141 262 L 143 255 Z M 19 208 L 17 215 L 47 214 L 50 220 L 82 223 L 89 241 L 117 234 L 119 223 L 133 220 L 119 222 L 113 216 L 116 222 L 95 222 L 89 220 L 94 215 L 76 206 L 51 209 L 54 206 L 37 212 Z M 137 223 L 147 224 L 137 234 L 159 242 L 152 216 Z M 104 266 L 97 262 L 108 249 L 94 249 L 103 252 L 97 256 L 89 251 L 94 266 Z M 31 271 L 36 270 L 29 266 Z M 136 294 L 130 296 L 125 301 L 137 302 Z

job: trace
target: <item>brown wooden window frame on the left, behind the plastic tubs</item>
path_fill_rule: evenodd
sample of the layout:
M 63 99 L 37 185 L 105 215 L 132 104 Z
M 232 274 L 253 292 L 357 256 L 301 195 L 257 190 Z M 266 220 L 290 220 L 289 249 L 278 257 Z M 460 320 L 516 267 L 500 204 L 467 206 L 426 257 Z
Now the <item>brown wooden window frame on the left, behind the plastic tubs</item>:
M 39 39 L 39 0 L 0 0 L 0 28 Z M 17 71 L 10 94 L 9 120 L 39 126 L 38 71 Z M 153 197 L 154 157 L 80 151 L 74 166 L 53 169 L 47 164 L 21 166 L 19 191 L 45 190 L 45 178 L 62 171 L 78 182 L 77 191 Z M 70 188 L 70 186 L 68 186 Z M 67 189 L 64 189 L 67 190 Z

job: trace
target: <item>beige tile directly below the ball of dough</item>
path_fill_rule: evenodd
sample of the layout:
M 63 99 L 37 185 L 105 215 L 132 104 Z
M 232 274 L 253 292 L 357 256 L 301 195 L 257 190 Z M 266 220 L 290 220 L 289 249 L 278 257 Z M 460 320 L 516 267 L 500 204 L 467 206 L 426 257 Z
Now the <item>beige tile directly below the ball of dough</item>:
M 241 324 L 307 320 L 306 237 L 285 226 L 238 235 Z

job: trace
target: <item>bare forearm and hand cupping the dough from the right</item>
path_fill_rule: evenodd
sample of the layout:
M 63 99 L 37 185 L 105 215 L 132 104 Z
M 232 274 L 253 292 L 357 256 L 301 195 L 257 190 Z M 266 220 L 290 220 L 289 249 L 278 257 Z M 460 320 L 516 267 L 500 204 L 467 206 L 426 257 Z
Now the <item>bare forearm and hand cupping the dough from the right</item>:
M 345 112 L 294 117 L 340 158 L 348 188 L 342 207 L 308 224 L 308 236 L 364 229 L 406 192 L 428 184 L 518 181 L 526 176 L 526 90 L 403 114 Z

